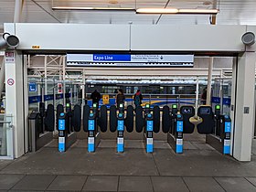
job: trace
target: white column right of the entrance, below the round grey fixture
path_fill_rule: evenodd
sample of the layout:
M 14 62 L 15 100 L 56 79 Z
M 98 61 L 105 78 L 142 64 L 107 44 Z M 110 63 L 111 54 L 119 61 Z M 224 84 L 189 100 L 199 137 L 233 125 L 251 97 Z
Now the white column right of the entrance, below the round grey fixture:
M 256 53 L 240 54 L 233 64 L 236 81 L 232 84 L 231 134 L 232 155 L 239 161 L 251 161 L 251 142 L 254 121 Z M 234 77 L 233 76 L 233 77 Z

